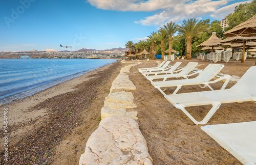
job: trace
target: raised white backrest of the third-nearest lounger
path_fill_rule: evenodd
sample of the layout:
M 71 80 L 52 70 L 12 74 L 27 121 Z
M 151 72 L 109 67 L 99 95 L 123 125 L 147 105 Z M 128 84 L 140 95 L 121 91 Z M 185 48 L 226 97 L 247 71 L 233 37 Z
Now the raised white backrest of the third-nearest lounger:
M 214 78 L 224 67 L 223 64 L 209 64 L 195 79 L 206 82 Z

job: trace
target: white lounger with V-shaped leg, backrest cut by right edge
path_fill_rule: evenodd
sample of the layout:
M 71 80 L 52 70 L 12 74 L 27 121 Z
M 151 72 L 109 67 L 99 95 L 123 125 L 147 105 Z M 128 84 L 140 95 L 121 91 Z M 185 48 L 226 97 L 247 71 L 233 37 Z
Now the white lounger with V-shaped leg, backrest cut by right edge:
M 165 98 L 181 109 L 195 124 L 206 124 L 222 103 L 256 101 L 256 66 L 250 67 L 230 89 L 166 95 Z M 202 121 L 195 120 L 185 109 L 186 106 L 212 105 Z

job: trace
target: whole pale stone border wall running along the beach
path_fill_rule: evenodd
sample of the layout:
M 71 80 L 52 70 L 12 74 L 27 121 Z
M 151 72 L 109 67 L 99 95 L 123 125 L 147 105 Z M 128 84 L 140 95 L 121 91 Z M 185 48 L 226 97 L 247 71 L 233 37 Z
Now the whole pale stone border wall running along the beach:
M 122 63 L 125 63 L 122 61 Z M 79 165 L 85 164 L 153 164 L 146 141 L 135 121 L 138 112 L 131 91 L 136 90 L 129 79 L 133 62 L 121 69 L 112 82 L 110 94 L 101 108 L 99 127 L 89 137 Z

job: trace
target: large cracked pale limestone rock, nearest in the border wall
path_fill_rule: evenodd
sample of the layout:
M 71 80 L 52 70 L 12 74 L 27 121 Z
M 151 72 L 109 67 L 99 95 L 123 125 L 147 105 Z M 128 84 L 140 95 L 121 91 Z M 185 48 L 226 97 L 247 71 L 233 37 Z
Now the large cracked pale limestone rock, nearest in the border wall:
M 89 137 L 79 165 L 153 164 L 138 123 L 126 117 L 102 119 Z

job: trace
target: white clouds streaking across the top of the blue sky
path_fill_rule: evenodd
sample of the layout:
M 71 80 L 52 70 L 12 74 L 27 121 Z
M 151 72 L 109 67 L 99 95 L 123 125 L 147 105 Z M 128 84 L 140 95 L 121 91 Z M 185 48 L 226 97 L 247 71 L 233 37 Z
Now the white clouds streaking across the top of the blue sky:
M 210 15 L 215 19 L 222 19 L 225 15 L 232 13 L 234 7 L 242 3 L 250 3 L 245 1 L 234 3 L 228 6 L 228 2 L 234 0 L 87 0 L 93 6 L 104 10 L 116 11 L 158 11 L 155 15 L 145 17 L 144 19 L 135 21 L 142 25 L 163 25 L 166 22 L 179 22 L 189 18 L 202 18 L 202 16 Z

